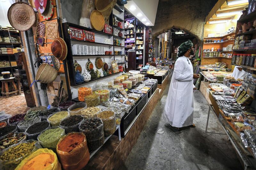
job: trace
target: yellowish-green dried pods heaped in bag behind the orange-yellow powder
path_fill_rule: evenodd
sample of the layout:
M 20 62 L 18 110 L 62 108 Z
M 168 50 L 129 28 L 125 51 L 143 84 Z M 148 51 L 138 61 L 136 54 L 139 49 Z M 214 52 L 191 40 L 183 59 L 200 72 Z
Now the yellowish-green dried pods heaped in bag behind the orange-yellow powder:
M 35 147 L 35 142 L 32 143 L 21 143 L 18 144 L 17 146 L 9 148 L 7 151 L 5 151 L 1 155 L 1 159 L 6 161 L 6 160 L 14 160 L 20 157 L 23 157 L 29 153 L 32 152 L 32 150 Z

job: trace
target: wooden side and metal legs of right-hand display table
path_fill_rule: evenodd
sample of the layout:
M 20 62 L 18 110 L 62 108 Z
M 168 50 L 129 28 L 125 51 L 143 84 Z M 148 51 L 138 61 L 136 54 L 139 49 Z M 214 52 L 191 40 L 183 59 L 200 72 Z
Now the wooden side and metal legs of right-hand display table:
M 239 157 L 241 158 L 240 161 L 242 165 L 244 165 L 244 169 L 256 169 L 256 158 L 253 156 L 251 149 L 244 147 L 244 144 L 242 143 L 242 140 L 240 138 L 240 134 L 236 131 L 234 125 L 228 121 L 227 117 L 224 114 L 222 114 L 220 107 L 213 99 L 212 91 L 209 93 L 209 98 L 212 102 L 212 105 L 209 104 L 204 136 L 206 137 L 207 133 L 212 133 L 207 131 L 210 110 L 212 110 L 212 112 L 218 117 L 221 127 L 224 129 L 226 135 L 228 135 L 228 138 L 232 146 L 234 147 Z

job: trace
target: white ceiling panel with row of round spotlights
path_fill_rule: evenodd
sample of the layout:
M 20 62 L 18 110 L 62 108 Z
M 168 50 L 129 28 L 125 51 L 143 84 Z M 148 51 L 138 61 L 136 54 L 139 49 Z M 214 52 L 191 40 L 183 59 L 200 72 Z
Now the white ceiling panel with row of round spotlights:
M 154 26 L 158 0 L 128 0 L 124 7 L 146 26 Z

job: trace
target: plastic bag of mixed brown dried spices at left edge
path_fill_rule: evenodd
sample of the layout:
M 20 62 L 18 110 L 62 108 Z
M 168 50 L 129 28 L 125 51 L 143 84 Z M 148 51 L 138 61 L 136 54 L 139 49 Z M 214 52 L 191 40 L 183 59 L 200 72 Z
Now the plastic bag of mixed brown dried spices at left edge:
M 18 136 L 20 137 L 17 138 Z M 12 139 L 15 139 L 15 140 L 12 142 L 10 141 Z M 12 147 L 14 144 L 19 144 L 20 142 L 23 142 L 25 140 L 27 140 L 27 136 L 24 132 L 11 132 L 5 137 L 0 138 L 0 151 L 6 148 Z

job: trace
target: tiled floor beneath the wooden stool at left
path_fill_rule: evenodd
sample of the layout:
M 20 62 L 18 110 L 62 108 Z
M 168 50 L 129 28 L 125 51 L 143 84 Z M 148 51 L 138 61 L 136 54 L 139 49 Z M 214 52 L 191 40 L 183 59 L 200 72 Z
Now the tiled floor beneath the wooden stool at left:
M 0 103 L 0 111 L 3 110 L 5 113 L 10 115 L 26 113 L 29 109 L 29 107 L 27 107 L 24 93 L 21 93 L 21 95 L 13 94 L 9 98 L 0 96 Z

